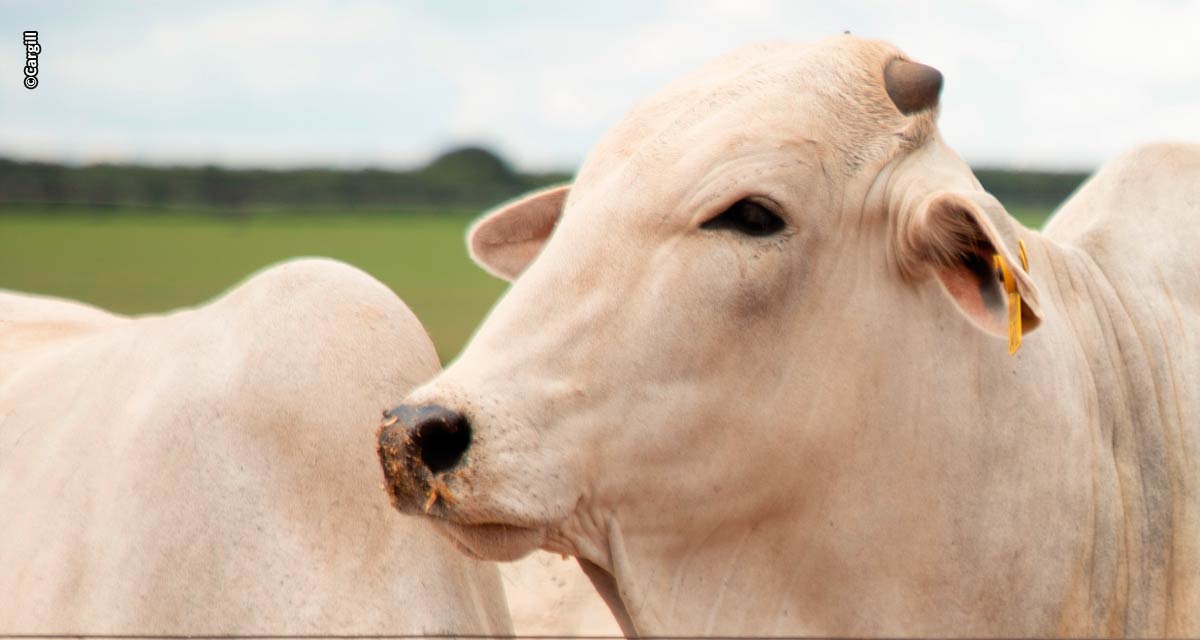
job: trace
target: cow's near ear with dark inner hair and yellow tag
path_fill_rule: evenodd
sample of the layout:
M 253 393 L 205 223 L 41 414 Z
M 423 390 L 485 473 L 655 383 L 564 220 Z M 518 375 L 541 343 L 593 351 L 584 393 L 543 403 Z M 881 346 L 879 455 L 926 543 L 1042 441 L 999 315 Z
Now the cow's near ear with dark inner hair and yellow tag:
M 902 213 L 896 235 L 901 270 L 910 277 L 931 271 L 976 325 L 1009 339 L 1010 352 L 1042 322 L 1030 277 L 1036 265 L 1027 264 L 1018 227 L 985 191 L 934 191 Z

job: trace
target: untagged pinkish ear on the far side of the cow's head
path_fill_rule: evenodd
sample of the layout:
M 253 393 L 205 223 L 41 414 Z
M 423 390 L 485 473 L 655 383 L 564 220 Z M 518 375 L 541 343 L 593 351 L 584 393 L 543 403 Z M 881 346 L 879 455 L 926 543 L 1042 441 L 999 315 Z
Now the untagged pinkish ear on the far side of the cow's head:
M 569 189 L 535 191 L 484 214 L 467 232 L 472 259 L 504 280 L 521 275 L 554 231 Z

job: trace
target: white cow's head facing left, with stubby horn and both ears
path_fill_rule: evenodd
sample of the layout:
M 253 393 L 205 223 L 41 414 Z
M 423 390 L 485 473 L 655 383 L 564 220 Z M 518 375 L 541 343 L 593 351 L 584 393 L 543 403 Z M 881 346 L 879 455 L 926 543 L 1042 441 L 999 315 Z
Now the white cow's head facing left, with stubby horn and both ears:
M 940 90 L 881 42 L 749 47 L 484 216 L 472 256 L 514 283 L 389 413 L 394 504 L 479 557 L 577 556 L 667 633 L 904 522 L 895 492 L 986 423 L 1010 305 L 1039 322 L 1027 232 L 943 144 Z

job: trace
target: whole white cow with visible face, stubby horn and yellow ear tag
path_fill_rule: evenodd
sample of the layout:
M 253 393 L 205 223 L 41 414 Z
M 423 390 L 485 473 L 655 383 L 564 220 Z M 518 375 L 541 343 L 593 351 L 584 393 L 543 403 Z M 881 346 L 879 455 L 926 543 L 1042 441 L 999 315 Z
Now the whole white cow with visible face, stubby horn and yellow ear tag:
M 580 557 L 629 633 L 1200 635 L 1200 148 L 1038 233 L 940 89 L 749 47 L 481 220 L 516 280 L 391 411 L 395 506 Z

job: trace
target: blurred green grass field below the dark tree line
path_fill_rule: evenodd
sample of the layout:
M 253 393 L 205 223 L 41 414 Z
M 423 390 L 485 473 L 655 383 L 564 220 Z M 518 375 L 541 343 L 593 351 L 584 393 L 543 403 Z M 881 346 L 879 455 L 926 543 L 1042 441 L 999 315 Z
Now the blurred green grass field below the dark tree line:
M 1013 209 L 1038 227 L 1048 211 Z M 200 304 L 295 256 L 328 256 L 392 288 L 449 361 L 505 283 L 467 257 L 470 213 L 370 216 L 178 211 L 0 211 L 0 288 L 61 295 L 120 313 Z

